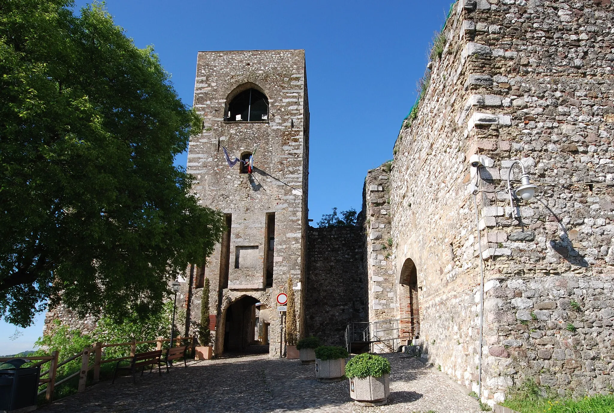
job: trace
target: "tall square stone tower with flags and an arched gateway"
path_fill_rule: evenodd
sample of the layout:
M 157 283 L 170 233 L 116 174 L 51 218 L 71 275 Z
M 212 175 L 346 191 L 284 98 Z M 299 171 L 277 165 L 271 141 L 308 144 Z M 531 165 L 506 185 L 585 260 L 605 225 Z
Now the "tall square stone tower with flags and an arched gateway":
M 201 51 L 188 172 L 203 205 L 222 210 L 228 230 L 205 268 L 192 272 L 192 320 L 209 278 L 214 352 L 270 342 L 279 355 L 276 295 L 292 279 L 303 330 L 309 106 L 304 50 Z M 230 161 L 240 159 L 229 167 Z M 249 159 L 252 157 L 252 165 Z M 244 162 L 242 162 L 244 161 Z M 259 339 L 259 341 L 258 341 Z

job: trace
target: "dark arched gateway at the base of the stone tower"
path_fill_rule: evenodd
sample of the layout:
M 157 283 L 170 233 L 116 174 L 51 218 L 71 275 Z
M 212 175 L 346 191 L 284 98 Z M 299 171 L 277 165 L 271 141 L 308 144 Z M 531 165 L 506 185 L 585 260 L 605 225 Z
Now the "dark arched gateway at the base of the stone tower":
M 224 352 L 260 354 L 268 353 L 268 343 L 262 341 L 261 323 L 266 310 L 249 295 L 235 300 L 226 310 L 224 323 Z M 266 317 L 268 323 L 268 317 Z M 267 330 L 268 332 L 268 330 Z M 260 340 L 258 340 L 260 338 Z

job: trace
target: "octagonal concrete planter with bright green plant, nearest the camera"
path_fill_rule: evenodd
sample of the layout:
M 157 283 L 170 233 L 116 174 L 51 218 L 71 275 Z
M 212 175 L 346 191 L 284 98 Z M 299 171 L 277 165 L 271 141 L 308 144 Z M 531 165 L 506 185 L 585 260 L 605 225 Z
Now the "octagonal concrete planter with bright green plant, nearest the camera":
M 380 355 L 363 353 L 352 357 L 345 368 L 349 396 L 360 406 L 382 406 L 390 395 L 390 362 Z

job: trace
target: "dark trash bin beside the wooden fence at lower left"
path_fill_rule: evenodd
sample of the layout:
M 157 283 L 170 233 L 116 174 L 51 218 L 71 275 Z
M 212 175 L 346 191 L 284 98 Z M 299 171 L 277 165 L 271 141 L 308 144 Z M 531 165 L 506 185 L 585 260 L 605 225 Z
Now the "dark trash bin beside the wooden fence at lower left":
M 40 376 L 40 367 L 0 369 L 0 413 L 36 410 Z

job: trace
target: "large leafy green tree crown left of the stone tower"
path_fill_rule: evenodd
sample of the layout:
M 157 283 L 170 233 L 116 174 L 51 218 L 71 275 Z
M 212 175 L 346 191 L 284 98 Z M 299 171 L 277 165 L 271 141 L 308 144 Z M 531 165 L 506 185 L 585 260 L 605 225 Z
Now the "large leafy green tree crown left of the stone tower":
M 80 314 L 156 312 L 223 229 L 173 165 L 200 117 L 152 47 L 73 6 L 0 2 L 0 317 L 21 327 L 60 294 Z

